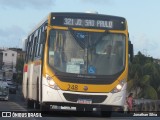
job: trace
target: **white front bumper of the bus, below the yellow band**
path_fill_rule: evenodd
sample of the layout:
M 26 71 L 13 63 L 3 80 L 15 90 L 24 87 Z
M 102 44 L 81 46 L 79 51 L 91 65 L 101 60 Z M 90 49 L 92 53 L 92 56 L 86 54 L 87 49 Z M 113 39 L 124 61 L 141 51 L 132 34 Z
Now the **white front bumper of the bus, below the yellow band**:
M 42 102 L 61 106 L 119 106 L 124 105 L 126 89 L 117 93 L 84 93 L 63 90 L 54 90 L 44 86 Z M 79 102 L 79 100 L 81 102 Z M 90 101 L 90 102 L 84 102 Z

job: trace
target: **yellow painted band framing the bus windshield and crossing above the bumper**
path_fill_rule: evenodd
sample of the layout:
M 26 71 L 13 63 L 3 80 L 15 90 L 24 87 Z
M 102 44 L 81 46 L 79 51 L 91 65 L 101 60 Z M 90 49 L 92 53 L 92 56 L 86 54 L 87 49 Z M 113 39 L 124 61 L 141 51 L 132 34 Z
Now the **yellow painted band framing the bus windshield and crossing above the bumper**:
M 50 23 L 50 17 L 48 17 L 49 23 Z M 127 23 L 126 23 L 127 25 Z M 126 35 L 126 65 L 125 65 L 125 70 L 124 72 L 118 77 L 115 82 L 112 84 L 102 84 L 102 85 L 95 85 L 95 84 L 77 84 L 77 83 L 68 83 L 68 82 L 62 82 L 60 81 L 52 71 L 52 69 L 48 66 L 48 37 L 49 37 L 49 31 L 51 29 L 61 29 L 61 30 L 68 30 L 68 27 L 62 27 L 62 26 L 48 26 L 47 27 L 47 36 L 46 36 L 46 43 L 45 43 L 45 48 L 44 48 L 44 64 L 43 64 L 43 77 L 46 77 L 46 74 L 50 75 L 55 83 L 60 87 L 62 90 L 68 90 L 68 86 L 73 86 L 77 85 L 78 89 L 76 92 L 92 92 L 92 93 L 103 93 L 103 92 L 111 92 L 117 84 L 124 79 L 127 79 L 128 75 L 128 30 L 124 31 L 118 31 L 118 30 L 109 30 L 109 32 L 113 33 L 122 33 Z M 105 30 L 99 30 L 99 29 L 86 29 L 86 28 L 72 28 L 73 30 L 77 31 L 89 31 L 89 32 L 105 32 Z M 42 64 L 42 62 L 41 62 Z M 97 80 L 98 81 L 98 80 Z M 88 87 L 88 90 L 84 90 L 84 86 Z M 72 91 L 72 90 L 71 90 Z M 75 90 L 73 90 L 75 91 Z

